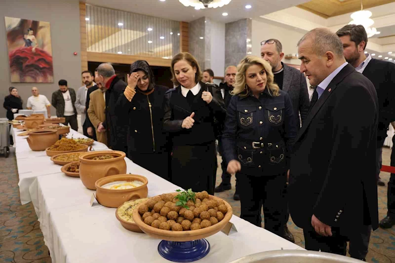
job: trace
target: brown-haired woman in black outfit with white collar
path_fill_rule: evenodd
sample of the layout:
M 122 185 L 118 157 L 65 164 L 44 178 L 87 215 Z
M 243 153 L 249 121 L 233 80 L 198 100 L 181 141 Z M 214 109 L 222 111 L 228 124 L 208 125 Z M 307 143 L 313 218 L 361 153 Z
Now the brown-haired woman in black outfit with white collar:
M 177 87 L 164 97 L 163 130 L 172 138 L 171 182 L 214 194 L 214 117 L 225 115 L 221 91 L 200 81 L 199 65 L 189 53 L 174 56 L 170 70 Z

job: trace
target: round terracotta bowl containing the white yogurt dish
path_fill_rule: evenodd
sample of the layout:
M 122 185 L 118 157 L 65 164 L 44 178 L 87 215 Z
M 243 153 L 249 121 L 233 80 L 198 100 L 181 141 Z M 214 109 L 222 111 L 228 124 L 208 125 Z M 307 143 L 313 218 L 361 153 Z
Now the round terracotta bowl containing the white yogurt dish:
M 131 188 L 131 189 L 106 189 L 102 186 L 116 181 L 140 181 L 143 183 L 142 186 Z M 96 199 L 97 201 L 107 207 L 117 208 L 126 201 L 140 199 L 147 197 L 148 194 L 148 179 L 141 175 L 132 174 L 121 174 L 112 175 L 101 178 L 96 181 Z

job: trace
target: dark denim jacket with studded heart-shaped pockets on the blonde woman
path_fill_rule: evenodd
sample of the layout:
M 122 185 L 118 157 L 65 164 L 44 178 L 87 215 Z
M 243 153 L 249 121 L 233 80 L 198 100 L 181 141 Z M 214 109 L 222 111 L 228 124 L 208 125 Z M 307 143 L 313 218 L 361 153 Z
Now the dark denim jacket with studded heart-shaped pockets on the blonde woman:
M 259 99 L 233 96 L 222 135 L 223 155 L 226 162 L 238 160 L 246 174 L 281 174 L 289 167 L 296 131 L 286 92 L 280 90 L 279 96 L 273 97 L 265 89 Z

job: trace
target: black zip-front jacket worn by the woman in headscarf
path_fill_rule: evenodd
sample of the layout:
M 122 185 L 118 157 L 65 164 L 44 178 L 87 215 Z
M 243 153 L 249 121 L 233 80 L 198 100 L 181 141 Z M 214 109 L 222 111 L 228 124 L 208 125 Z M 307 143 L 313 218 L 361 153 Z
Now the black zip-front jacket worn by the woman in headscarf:
M 137 88 L 136 88 L 137 89 Z M 137 90 L 131 102 L 121 94 L 116 105 L 118 118 L 127 123 L 128 156 L 140 153 L 166 152 L 167 137 L 163 132 L 164 94 L 167 87 L 156 85 L 154 91 L 144 95 Z M 151 104 L 151 111 L 150 107 Z M 152 119 L 151 119 L 152 117 Z M 155 149 L 154 149 L 155 144 Z M 133 159 L 133 158 L 131 158 Z

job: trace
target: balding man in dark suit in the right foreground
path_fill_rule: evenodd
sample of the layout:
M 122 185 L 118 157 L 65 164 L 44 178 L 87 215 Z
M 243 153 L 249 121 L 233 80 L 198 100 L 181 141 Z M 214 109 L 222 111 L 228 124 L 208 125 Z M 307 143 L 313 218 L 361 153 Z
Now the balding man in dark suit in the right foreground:
M 298 53 L 316 89 L 291 157 L 289 209 L 307 250 L 346 255 L 364 225 L 378 227 L 377 94 L 329 29 L 308 32 Z

